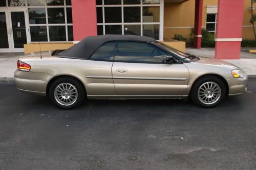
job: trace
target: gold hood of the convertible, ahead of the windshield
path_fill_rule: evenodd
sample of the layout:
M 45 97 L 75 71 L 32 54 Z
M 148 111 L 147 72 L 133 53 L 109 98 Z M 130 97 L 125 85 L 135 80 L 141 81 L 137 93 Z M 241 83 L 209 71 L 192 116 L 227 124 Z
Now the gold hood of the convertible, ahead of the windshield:
M 241 69 L 240 67 L 231 64 L 227 61 L 219 60 L 219 59 L 213 59 L 213 58 L 207 58 L 207 57 L 199 57 L 200 60 L 195 61 L 196 64 L 203 64 L 203 65 L 209 65 L 209 66 L 217 66 L 217 67 L 225 67 L 229 69 Z M 241 69 L 242 70 L 242 69 Z

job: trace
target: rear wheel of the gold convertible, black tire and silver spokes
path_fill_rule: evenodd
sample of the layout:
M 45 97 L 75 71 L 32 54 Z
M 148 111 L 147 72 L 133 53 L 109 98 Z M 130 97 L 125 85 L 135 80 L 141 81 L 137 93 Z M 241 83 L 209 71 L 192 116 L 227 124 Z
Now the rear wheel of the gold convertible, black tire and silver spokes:
M 60 84 L 62 84 L 62 83 L 64 83 L 64 85 L 65 85 L 65 84 L 70 85 L 70 86 L 73 85 L 72 88 L 74 87 L 75 92 L 77 92 L 77 93 L 74 94 L 76 97 L 74 97 L 73 102 L 70 102 L 70 103 L 67 104 L 67 105 L 61 104 L 61 103 L 60 103 L 61 101 L 58 101 L 58 100 L 55 98 L 55 94 L 54 94 L 55 89 L 56 89 Z M 62 86 L 61 86 L 61 88 L 62 88 Z M 63 89 L 64 89 L 64 88 L 63 88 Z M 59 108 L 61 108 L 61 109 L 72 109 L 72 108 L 75 108 L 75 107 L 79 106 L 79 105 L 82 103 L 83 99 L 84 99 L 84 94 L 85 94 L 85 93 L 86 93 L 86 92 L 85 92 L 85 90 L 84 90 L 83 84 L 81 84 L 78 80 L 73 79 L 73 78 L 59 78 L 59 79 L 55 80 L 55 81 L 51 84 L 50 89 L 49 89 L 49 97 L 50 97 L 50 100 L 51 100 L 55 105 L 57 105 Z M 64 94 L 64 95 L 65 95 L 65 94 Z M 70 93 L 70 94 L 67 94 L 67 95 L 72 95 L 72 94 Z M 67 96 L 67 95 L 66 95 L 66 96 Z M 70 96 L 70 97 L 71 97 L 71 96 Z M 60 99 L 61 99 L 61 98 L 60 98 Z M 71 98 L 70 98 L 70 100 L 71 100 Z M 68 100 L 67 100 L 67 102 L 68 102 Z

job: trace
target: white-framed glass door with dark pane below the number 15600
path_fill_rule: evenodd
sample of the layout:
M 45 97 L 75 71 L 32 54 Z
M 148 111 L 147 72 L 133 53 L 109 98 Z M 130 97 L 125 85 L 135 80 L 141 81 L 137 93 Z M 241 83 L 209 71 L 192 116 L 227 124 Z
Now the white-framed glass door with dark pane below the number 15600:
M 24 52 L 24 44 L 29 41 L 29 27 L 26 9 L 9 9 L 9 25 L 12 52 Z

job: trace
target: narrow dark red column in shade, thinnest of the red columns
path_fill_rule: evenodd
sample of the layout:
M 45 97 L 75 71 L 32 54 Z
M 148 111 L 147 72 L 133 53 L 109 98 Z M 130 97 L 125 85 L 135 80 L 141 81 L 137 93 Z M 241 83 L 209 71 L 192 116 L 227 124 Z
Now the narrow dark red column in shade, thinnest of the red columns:
M 196 0 L 195 25 L 194 25 L 194 48 L 201 48 L 202 11 L 203 11 L 203 0 Z

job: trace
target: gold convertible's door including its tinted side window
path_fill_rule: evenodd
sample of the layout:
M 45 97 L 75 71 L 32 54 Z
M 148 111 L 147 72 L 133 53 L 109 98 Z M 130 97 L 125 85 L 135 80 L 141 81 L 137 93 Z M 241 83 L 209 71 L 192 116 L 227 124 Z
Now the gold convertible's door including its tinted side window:
M 182 96 L 188 84 L 188 69 L 168 63 L 166 52 L 150 43 L 118 41 L 112 67 L 119 96 L 162 98 Z

